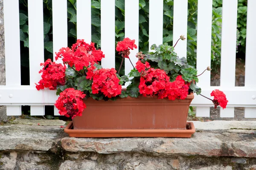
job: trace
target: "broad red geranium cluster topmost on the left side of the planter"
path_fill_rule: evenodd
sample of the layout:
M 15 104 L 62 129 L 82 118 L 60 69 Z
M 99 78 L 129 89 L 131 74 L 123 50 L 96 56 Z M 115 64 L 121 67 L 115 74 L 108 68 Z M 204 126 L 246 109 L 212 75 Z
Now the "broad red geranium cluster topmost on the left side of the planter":
M 98 63 L 105 57 L 101 50 L 96 50 L 94 43 L 90 45 L 84 42 L 84 40 L 77 40 L 75 44 L 70 48 L 61 48 L 58 53 L 55 53 L 57 60 L 62 58 L 64 64 L 75 66 L 76 71 L 83 70 L 84 66 L 88 67 L 94 63 Z

